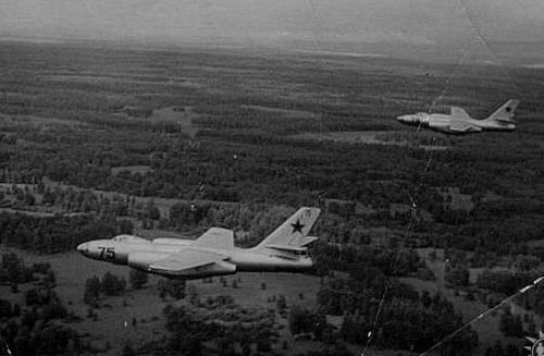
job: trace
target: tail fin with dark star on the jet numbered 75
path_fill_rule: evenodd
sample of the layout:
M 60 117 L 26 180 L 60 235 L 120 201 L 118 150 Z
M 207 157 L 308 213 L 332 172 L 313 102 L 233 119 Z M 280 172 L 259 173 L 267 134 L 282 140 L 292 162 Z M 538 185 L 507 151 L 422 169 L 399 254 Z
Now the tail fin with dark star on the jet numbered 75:
M 320 212 L 319 208 L 298 209 L 293 217 L 268 235 L 256 248 L 267 246 L 301 247 L 313 242 L 316 237 L 308 236 L 308 233 L 318 220 Z

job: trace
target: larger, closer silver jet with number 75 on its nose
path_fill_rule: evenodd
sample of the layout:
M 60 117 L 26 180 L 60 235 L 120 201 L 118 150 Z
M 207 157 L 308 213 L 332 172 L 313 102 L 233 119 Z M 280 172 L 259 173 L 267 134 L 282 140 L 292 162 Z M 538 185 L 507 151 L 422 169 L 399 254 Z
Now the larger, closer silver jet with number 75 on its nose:
M 308 233 L 319 213 L 318 208 L 300 208 L 252 248 L 235 247 L 232 230 L 211 228 L 197 240 L 119 235 L 81 244 L 77 250 L 91 259 L 184 280 L 237 271 L 299 272 L 313 266 L 307 245 L 318 238 Z

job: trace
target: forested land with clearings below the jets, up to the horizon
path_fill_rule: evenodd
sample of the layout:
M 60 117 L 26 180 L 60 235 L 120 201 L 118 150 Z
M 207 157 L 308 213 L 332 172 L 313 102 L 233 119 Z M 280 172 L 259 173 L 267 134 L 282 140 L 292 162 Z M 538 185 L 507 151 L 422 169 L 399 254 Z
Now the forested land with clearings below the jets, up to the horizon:
M 544 285 L 507 299 L 544 272 L 536 62 L 0 46 L 0 355 L 517 356 L 544 331 Z M 396 120 L 507 99 L 510 133 Z M 248 247 L 302 206 L 306 274 L 184 282 L 75 250 L 211 226 Z

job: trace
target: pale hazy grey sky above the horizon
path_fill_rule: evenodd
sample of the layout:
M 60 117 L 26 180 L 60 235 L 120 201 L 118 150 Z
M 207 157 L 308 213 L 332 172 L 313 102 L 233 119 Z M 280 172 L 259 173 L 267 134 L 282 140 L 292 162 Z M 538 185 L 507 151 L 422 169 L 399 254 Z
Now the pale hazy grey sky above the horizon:
M 544 40 L 544 0 L 0 0 L 0 34 L 274 44 Z

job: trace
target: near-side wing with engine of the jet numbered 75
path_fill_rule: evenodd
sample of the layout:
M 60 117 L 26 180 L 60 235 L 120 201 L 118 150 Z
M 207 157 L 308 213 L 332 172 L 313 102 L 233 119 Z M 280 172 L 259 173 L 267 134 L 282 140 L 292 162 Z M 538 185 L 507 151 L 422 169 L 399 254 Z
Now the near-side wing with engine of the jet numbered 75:
M 217 265 L 217 268 L 220 269 L 235 268 L 234 265 L 225 262 L 226 259 L 226 256 L 220 254 L 184 248 L 170 254 L 166 258 L 149 263 L 148 270 L 149 272 L 172 277 L 190 277 L 197 273 L 196 270 L 212 267 L 213 265 Z

